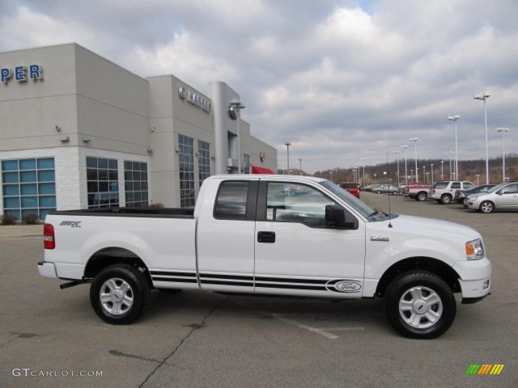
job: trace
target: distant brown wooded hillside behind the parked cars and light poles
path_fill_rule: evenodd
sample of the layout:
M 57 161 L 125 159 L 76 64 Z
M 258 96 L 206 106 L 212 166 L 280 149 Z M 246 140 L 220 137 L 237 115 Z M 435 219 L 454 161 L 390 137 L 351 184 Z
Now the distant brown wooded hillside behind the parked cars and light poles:
M 418 168 L 419 168 L 419 180 L 423 181 L 423 166 L 426 167 L 426 172 L 430 172 L 430 165 L 433 163 L 434 165 L 434 181 L 438 181 L 441 178 L 441 159 L 418 159 Z M 453 165 L 453 160 L 452 160 Z M 407 160 L 407 169 L 408 174 L 410 175 L 410 169 L 414 169 L 415 161 L 414 159 Z M 502 158 L 493 158 L 489 161 L 490 168 L 490 183 L 500 183 L 502 181 Z M 479 183 L 485 183 L 485 159 L 480 160 L 459 160 L 458 162 L 458 170 L 459 177 L 463 181 L 471 181 L 473 183 L 477 183 L 477 174 L 480 174 Z M 343 182 L 343 181 L 352 181 L 353 173 L 350 168 L 334 168 L 324 171 L 317 171 L 314 173 L 314 176 L 320 176 L 329 179 L 329 172 L 333 172 L 333 182 Z M 363 167 L 359 169 L 360 178 L 363 178 Z M 387 176 L 389 182 L 395 183 L 396 171 L 397 171 L 397 162 L 392 161 L 389 162 L 387 167 L 386 163 L 380 163 L 376 166 L 365 166 L 365 178 L 367 184 L 372 183 L 383 183 L 387 181 L 387 178 L 383 178 L 383 171 L 387 171 Z M 400 182 L 405 181 L 405 160 L 399 160 L 399 171 L 401 174 Z M 508 154 L 506 155 L 506 172 L 507 177 L 510 178 L 511 181 L 518 181 L 518 154 Z M 295 172 L 293 172 L 295 173 Z M 298 170 L 296 172 L 298 174 Z M 376 174 L 376 175 L 375 175 Z M 415 175 L 415 171 L 414 171 Z M 444 160 L 444 179 L 447 180 L 450 178 L 450 159 Z M 410 180 L 410 178 L 409 178 Z M 415 179 L 412 178 L 412 181 Z M 429 176 L 429 180 L 431 181 L 431 176 Z M 362 182 L 363 183 L 363 182 Z

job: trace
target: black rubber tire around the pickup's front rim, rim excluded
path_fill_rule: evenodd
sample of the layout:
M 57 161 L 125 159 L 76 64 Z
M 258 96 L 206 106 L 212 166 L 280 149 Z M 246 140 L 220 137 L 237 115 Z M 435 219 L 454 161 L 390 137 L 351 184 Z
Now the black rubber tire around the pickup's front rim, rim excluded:
M 425 289 L 435 292 L 442 303 L 442 313 L 440 314 L 440 318 L 429 327 L 414 327 L 403 318 L 403 316 L 407 317 L 405 314 L 408 312 L 409 315 L 414 314 L 419 317 L 420 321 L 418 326 L 420 324 L 426 325 L 430 323 L 430 321 L 425 317 L 425 313 L 416 314 L 413 312 L 414 307 L 412 307 L 411 311 L 404 312 L 400 312 L 399 309 L 399 303 L 402 296 L 409 295 L 409 291 L 412 288 L 417 287 L 420 287 L 422 292 L 426 292 Z M 428 294 L 428 296 L 430 295 L 431 294 Z M 422 301 L 423 300 L 416 300 L 416 304 L 414 305 L 416 306 L 415 308 L 425 308 L 425 312 L 428 309 L 437 309 L 437 311 L 439 311 L 439 304 L 427 307 L 423 306 Z M 431 272 L 418 270 L 402 273 L 390 282 L 389 287 L 387 287 L 385 292 L 384 306 L 386 316 L 397 332 L 405 337 L 418 339 L 431 339 L 442 335 L 450 328 L 457 311 L 455 297 L 453 296 L 453 291 L 448 284 L 439 276 Z M 410 317 L 407 318 L 410 319 Z M 423 322 L 423 320 L 425 322 Z

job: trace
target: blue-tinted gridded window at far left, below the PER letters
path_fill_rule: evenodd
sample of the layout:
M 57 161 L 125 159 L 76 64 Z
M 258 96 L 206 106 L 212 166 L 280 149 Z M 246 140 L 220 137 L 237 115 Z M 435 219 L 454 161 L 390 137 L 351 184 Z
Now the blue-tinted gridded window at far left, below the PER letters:
M 2 182 L 4 214 L 45 219 L 56 210 L 54 158 L 3 160 Z

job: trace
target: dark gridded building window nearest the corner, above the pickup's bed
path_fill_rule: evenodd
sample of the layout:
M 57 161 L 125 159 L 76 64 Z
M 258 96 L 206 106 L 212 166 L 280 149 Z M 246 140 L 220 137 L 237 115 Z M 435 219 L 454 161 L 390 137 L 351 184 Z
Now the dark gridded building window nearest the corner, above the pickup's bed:
M 88 207 L 119 207 L 117 159 L 87 157 Z

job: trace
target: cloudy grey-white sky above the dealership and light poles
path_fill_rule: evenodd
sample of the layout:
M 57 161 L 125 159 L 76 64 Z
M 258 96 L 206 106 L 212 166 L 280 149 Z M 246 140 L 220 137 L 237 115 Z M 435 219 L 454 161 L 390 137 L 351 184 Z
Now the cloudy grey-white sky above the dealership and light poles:
M 349 167 L 419 137 L 419 158 L 518 152 L 516 0 L 1 0 L 0 51 L 76 41 L 143 76 L 241 95 L 258 138 L 292 165 Z M 135 3 L 132 5 L 132 3 Z M 409 148 L 410 150 L 410 148 Z

